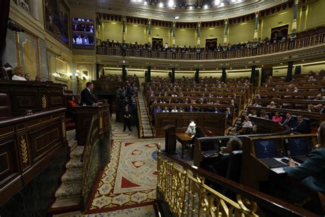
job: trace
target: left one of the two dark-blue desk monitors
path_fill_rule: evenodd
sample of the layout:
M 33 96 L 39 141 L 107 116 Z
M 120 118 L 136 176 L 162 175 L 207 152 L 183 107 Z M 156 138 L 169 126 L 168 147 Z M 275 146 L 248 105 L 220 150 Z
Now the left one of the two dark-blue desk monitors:
M 275 139 L 258 139 L 254 141 L 255 154 L 258 159 L 276 157 Z

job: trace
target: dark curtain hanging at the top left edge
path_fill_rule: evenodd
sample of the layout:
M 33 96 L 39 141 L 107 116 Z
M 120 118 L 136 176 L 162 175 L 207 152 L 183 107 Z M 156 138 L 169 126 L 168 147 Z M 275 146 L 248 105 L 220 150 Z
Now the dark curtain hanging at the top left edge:
M 2 55 L 5 50 L 5 36 L 7 35 L 7 23 L 9 17 L 10 0 L 0 1 L 0 67 L 3 66 Z

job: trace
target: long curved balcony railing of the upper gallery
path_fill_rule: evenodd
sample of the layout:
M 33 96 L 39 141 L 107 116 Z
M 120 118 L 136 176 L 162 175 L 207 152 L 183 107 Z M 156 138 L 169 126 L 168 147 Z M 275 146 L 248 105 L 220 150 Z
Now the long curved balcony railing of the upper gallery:
M 325 42 L 325 32 L 296 38 L 282 43 L 273 43 L 258 47 L 234 49 L 221 52 L 165 52 L 149 49 L 121 49 L 119 47 L 97 46 L 97 54 L 109 56 L 132 56 L 139 58 L 156 58 L 167 60 L 218 60 L 228 58 L 243 58 L 285 52 L 291 49 L 310 47 Z

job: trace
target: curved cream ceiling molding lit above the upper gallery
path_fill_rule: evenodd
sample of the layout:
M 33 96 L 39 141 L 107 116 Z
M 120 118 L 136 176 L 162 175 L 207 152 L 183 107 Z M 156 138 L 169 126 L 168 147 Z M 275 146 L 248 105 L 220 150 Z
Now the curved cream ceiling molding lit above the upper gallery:
M 286 3 L 289 0 L 248 0 L 243 3 L 226 5 L 222 8 L 209 9 L 169 9 L 158 8 L 157 5 L 144 5 L 143 3 L 130 3 L 126 0 L 71 0 L 72 5 L 84 5 L 93 8 L 95 2 L 96 12 L 106 14 L 117 14 L 123 16 L 137 16 L 146 19 L 177 22 L 207 22 L 230 19 L 237 16 L 252 14 L 256 11 L 272 8 L 276 5 Z M 175 20 L 174 17 L 179 16 Z

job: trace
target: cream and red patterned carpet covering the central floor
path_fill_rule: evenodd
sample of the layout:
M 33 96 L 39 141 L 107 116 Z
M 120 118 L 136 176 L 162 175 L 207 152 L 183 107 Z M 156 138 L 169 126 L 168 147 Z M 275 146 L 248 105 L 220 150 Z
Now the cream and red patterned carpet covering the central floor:
M 153 205 L 156 199 L 156 146 L 164 139 L 115 140 L 111 161 L 97 183 L 86 214 Z

